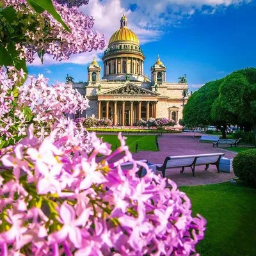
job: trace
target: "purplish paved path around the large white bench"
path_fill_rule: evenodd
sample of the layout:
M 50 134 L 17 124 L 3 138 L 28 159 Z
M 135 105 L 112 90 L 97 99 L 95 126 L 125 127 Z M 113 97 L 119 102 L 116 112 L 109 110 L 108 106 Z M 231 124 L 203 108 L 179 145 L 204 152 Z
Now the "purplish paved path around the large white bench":
M 184 156 L 193 154 L 225 153 L 225 157 L 230 159 L 236 156 L 236 152 L 212 147 L 212 143 L 199 143 L 193 138 L 194 133 L 183 132 L 181 134 L 163 134 L 158 139 L 159 151 L 139 151 L 132 156 L 136 160 L 147 159 L 150 163 L 163 163 L 166 156 Z M 200 135 L 200 134 L 199 134 Z M 140 145 L 139 145 L 140 147 Z M 204 170 L 205 166 L 196 166 L 196 177 L 192 176 L 190 168 L 180 174 L 180 169 L 166 170 L 166 177 L 174 180 L 179 186 L 214 184 L 225 182 L 236 178 L 234 173 L 217 173 L 216 166 L 210 165 L 209 170 Z

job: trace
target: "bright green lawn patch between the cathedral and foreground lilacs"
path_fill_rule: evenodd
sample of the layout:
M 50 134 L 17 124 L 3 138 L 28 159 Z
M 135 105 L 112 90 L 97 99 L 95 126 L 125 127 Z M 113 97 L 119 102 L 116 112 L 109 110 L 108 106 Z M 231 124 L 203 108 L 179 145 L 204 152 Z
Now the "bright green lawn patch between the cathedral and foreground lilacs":
M 97 136 L 103 137 L 104 142 L 108 142 L 111 144 L 111 150 L 115 150 L 115 147 L 120 146 L 120 141 L 117 138 L 117 135 L 101 135 L 97 134 Z M 125 135 L 127 137 L 126 144 L 129 146 L 131 152 L 135 152 L 135 144 L 138 143 L 139 151 L 157 151 L 156 147 L 156 136 L 154 135 Z

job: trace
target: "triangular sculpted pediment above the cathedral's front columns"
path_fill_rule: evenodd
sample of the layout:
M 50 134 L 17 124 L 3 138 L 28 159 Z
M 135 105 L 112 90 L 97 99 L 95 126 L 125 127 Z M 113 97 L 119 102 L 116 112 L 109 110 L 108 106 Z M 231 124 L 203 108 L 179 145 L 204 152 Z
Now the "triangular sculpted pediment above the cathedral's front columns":
M 127 83 L 122 84 L 121 86 L 116 86 L 102 93 L 98 93 L 99 95 L 152 95 L 157 96 L 159 93 L 152 92 L 141 86 L 136 84 Z

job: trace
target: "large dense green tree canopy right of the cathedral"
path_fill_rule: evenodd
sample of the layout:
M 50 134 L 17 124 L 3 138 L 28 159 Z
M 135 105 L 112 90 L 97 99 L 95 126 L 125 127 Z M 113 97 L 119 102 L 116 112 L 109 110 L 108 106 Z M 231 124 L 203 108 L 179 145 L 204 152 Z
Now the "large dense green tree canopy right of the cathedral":
M 206 83 L 191 95 L 183 114 L 188 127 L 215 125 L 224 138 L 228 124 L 250 124 L 256 131 L 256 68 Z

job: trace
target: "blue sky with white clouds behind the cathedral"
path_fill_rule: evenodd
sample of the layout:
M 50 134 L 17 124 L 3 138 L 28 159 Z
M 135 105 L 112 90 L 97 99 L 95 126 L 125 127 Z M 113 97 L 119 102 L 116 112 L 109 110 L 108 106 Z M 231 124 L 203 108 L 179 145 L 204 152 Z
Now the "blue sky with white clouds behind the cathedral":
M 145 73 L 159 54 L 167 81 L 187 74 L 190 90 L 233 70 L 256 67 L 256 0 L 90 0 L 81 11 L 95 18 L 95 30 L 108 39 L 125 13 L 141 41 Z M 44 65 L 38 60 L 29 65 L 29 73 L 44 74 L 50 83 L 64 82 L 67 74 L 86 81 L 93 56 L 102 64 L 102 52 L 72 56 L 68 63 L 47 57 Z

